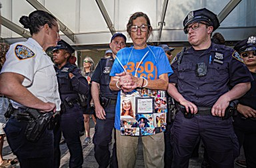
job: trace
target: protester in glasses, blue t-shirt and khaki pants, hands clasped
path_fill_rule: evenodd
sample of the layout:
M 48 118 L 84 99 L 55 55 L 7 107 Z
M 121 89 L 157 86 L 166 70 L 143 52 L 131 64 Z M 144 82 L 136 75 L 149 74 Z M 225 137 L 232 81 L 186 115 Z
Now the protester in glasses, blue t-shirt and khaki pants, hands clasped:
M 131 15 L 127 23 L 127 33 L 133 41 L 133 46 L 125 47 L 117 53 L 119 59 L 115 59 L 110 73 L 111 83 L 109 84 L 112 91 L 119 91 L 115 107 L 119 167 L 135 167 L 139 139 L 139 137 L 121 135 L 121 91 L 127 94 L 135 91 L 134 89 L 167 91 L 168 76 L 173 73 L 163 49 L 147 45 L 152 27 L 149 17 L 145 13 L 137 12 Z M 118 81 L 115 76 L 120 77 Z M 164 167 L 165 144 L 163 132 L 159 131 L 155 135 L 143 136 L 142 142 L 145 167 Z

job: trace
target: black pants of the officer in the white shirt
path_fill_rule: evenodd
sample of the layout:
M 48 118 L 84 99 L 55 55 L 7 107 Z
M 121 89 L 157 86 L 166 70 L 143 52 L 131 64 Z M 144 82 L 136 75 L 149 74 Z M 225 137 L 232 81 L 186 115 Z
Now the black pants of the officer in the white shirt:
M 46 129 L 39 141 L 27 141 L 27 123 L 11 117 L 5 126 L 7 141 L 21 168 L 53 167 L 53 131 Z

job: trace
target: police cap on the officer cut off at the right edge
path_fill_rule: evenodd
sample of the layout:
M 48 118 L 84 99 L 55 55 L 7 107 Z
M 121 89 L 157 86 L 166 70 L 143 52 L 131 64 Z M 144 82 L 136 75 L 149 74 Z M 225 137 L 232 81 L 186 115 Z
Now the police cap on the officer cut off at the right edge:
M 255 51 L 256 50 L 256 37 L 251 36 L 248 39 L 239 41 L 235 47 L 235 51 L 238 53 L 243 53 L 245 51 Z

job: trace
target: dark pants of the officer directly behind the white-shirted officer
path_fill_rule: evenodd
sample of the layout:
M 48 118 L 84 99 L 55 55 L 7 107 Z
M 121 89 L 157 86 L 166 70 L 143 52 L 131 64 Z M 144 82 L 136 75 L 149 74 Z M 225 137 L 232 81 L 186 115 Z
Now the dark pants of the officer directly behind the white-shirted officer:
M 65 113 L 61 115 L 60 128 L 63 137 L 66 140 L 67 147 L 70 153 L 69 167 L 82 167 L 83 165 L 83 148 L 81 145 L 79 131 L 81 131 L 81 122 L 83 122 L 83 112 L 78 104 L 73 108 L 66 108 Z M 55 165 L 59 167 L 60 159 L 59 142 L 61 140 L 61 133 L 55 130 Z

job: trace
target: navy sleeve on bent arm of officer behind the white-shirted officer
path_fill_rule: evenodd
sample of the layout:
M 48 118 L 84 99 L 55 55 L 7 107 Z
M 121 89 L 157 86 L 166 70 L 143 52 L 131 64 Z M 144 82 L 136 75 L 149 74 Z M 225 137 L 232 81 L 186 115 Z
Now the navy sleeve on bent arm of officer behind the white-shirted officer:
M 81 95 L 87 95 L 89 91 L 89 85 L 85 77 L 83 77 L 81 74 L 81 69 L 75 68 L 72 73 L 75 75 L 75 77 L 71 79 L 73 89 Z

